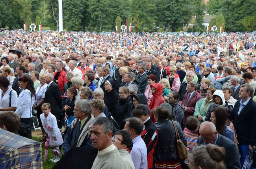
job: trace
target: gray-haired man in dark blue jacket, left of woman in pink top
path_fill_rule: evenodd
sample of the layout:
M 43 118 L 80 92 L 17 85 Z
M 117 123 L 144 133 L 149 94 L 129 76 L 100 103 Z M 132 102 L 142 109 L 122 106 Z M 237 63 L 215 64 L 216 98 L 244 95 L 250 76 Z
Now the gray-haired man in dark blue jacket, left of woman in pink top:
M 139 91 L 144 93 L 148 85 L 148 75 L 145 73 L 146 65 L 144 63 L 139 64 L 138 71 L 139 74 L 136 76 L 135 81 L 139 86 Z

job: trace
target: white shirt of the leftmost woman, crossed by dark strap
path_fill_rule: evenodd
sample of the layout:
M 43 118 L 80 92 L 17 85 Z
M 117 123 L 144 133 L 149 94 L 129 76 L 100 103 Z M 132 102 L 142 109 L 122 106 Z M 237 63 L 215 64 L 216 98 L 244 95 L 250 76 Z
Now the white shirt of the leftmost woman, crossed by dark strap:
M 3 96 L 3 91 L 0 89 L 0 108 L 7 108 L 9 107 L 10 103 L 10 92 L 13 90 L 9 87 L 9 89 L 6 91 L 6 93 Z M 3 96 L 3 97 L 2 97 Z M 15 90 L 11 92 L 11 107 L 17 107 L 18 101 L 17 101 L 17 93 Z M 0 111 L 0 113 L 4 113 L 6 111 Z

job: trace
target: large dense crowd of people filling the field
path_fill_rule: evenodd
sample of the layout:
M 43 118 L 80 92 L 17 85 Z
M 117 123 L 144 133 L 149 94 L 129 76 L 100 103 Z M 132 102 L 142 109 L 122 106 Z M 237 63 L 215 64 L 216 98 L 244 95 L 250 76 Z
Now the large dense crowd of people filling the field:
M 0 127 L 31 139 L 36 113 L 53 163 L 91 147 L 93 169 L 241 169 L 255 151 L 256 34 L 19 30 L 0 56 Z

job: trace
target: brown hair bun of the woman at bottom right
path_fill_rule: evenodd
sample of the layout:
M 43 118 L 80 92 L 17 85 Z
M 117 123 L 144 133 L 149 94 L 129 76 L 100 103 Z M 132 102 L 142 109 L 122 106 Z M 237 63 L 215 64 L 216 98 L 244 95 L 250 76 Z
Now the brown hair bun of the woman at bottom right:
M 211 156 L 211 158 L 216 162 L 221 162 L 224 160 L 226 153 L 223 147 L 214 146 L 213 144 L 206 145 L 206 149 Z

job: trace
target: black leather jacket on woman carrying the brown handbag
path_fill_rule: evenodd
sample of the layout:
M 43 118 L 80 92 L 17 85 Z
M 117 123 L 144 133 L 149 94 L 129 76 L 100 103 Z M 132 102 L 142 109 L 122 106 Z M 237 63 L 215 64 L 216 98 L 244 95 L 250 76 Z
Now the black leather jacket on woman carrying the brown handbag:
M 185 146 L 187 146 L 186 138 L 182 132 L 180 124 L 175 121 L 180 134 L 180 138 Z M 173 123 L 170 120 L 161 120 L 154 123 L 158 131 L 158 143 L 154 153 L 155 161 L 179 160 L 177 151 L 177 140 Z

